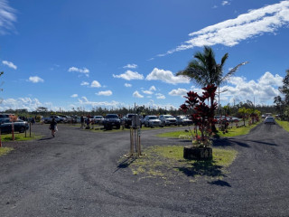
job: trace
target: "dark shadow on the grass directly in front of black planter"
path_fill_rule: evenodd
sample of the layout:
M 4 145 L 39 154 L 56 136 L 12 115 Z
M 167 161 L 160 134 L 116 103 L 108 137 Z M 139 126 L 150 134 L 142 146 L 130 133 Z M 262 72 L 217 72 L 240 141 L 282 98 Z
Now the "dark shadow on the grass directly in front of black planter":
M 225 176 L 221 171 L 222 166 L 216 165 L 214 160 L 196 161 L 190 165 L 174 168 L 190 177 L 196 175 L 206 175 L 210 177 Z

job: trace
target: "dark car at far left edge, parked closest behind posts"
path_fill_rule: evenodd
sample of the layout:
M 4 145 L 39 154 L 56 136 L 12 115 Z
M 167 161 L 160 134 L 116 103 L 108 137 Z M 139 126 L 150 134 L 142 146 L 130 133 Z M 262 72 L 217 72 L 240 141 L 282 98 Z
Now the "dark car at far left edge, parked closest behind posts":
M 23 121 L 22 119 L 16 119 L 15 121 L 11 121 L 10 118 L 1 118 L 1 133 L 12 133 L 12 122 L 14 123 L 14 132 L 23 133 L 25 131 L 25 128 L 26 130 L 29 129 L 28 123 L 26 121 Z

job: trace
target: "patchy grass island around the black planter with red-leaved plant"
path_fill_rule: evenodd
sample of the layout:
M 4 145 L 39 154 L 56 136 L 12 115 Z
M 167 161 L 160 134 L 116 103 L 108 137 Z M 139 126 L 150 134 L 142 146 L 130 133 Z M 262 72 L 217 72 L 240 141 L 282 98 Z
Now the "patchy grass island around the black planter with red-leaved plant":
M 183 146 L 151 146 L 144 149 L 144 154 L 128 158 L 118 167 L 129 167 L 133 175 L 162 177 L 166 181 L 181 176 L 222 178 L 238 153 L 233 149 L 213 148 L 212 160 L 196 161 L 183 158 Z

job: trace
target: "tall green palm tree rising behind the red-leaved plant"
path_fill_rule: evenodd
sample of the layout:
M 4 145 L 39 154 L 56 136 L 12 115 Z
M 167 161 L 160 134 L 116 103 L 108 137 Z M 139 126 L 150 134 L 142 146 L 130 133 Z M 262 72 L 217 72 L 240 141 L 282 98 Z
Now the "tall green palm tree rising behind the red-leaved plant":
M 247 61 L 239 63 L 228 71 L 226 75 L 223 75 L 223 67 L 228 60 L 228 53 L 222 57 L 219 64 L 215 60 L 215 53 L 209 46 L 204 46 L 204 51 L 196 52 L 193 57 L 195 59 L 190 61 L 183 71 L 178 71 L 176 75 L 185 76 L 200 85 L 200 87 L 214 84 L 219 89 L 219 86 L 226 82 L 230 76 L 234 75 L 240 66 L 247 63 Z M 213 102 L 211 101 L 212 104 Z

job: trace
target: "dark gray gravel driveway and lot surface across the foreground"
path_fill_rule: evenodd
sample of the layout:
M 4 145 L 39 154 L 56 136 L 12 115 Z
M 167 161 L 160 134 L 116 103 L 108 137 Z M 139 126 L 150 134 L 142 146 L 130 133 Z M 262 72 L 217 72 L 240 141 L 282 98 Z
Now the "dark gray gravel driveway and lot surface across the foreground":
M 129 133 L 96 133 L 59 126 L 33 126 L 42 139 L 5 143 L 15 150 L 0 157 L 0 216 L 289 216 L 289 133 L 260 124 L 250 134 L 223 138 L 214 146 L 238 157 L 222 180 L 190 175 L 132 175 L 117 167 L 129 149 Z M 185 145 L 142 132 L 144 146 Z

